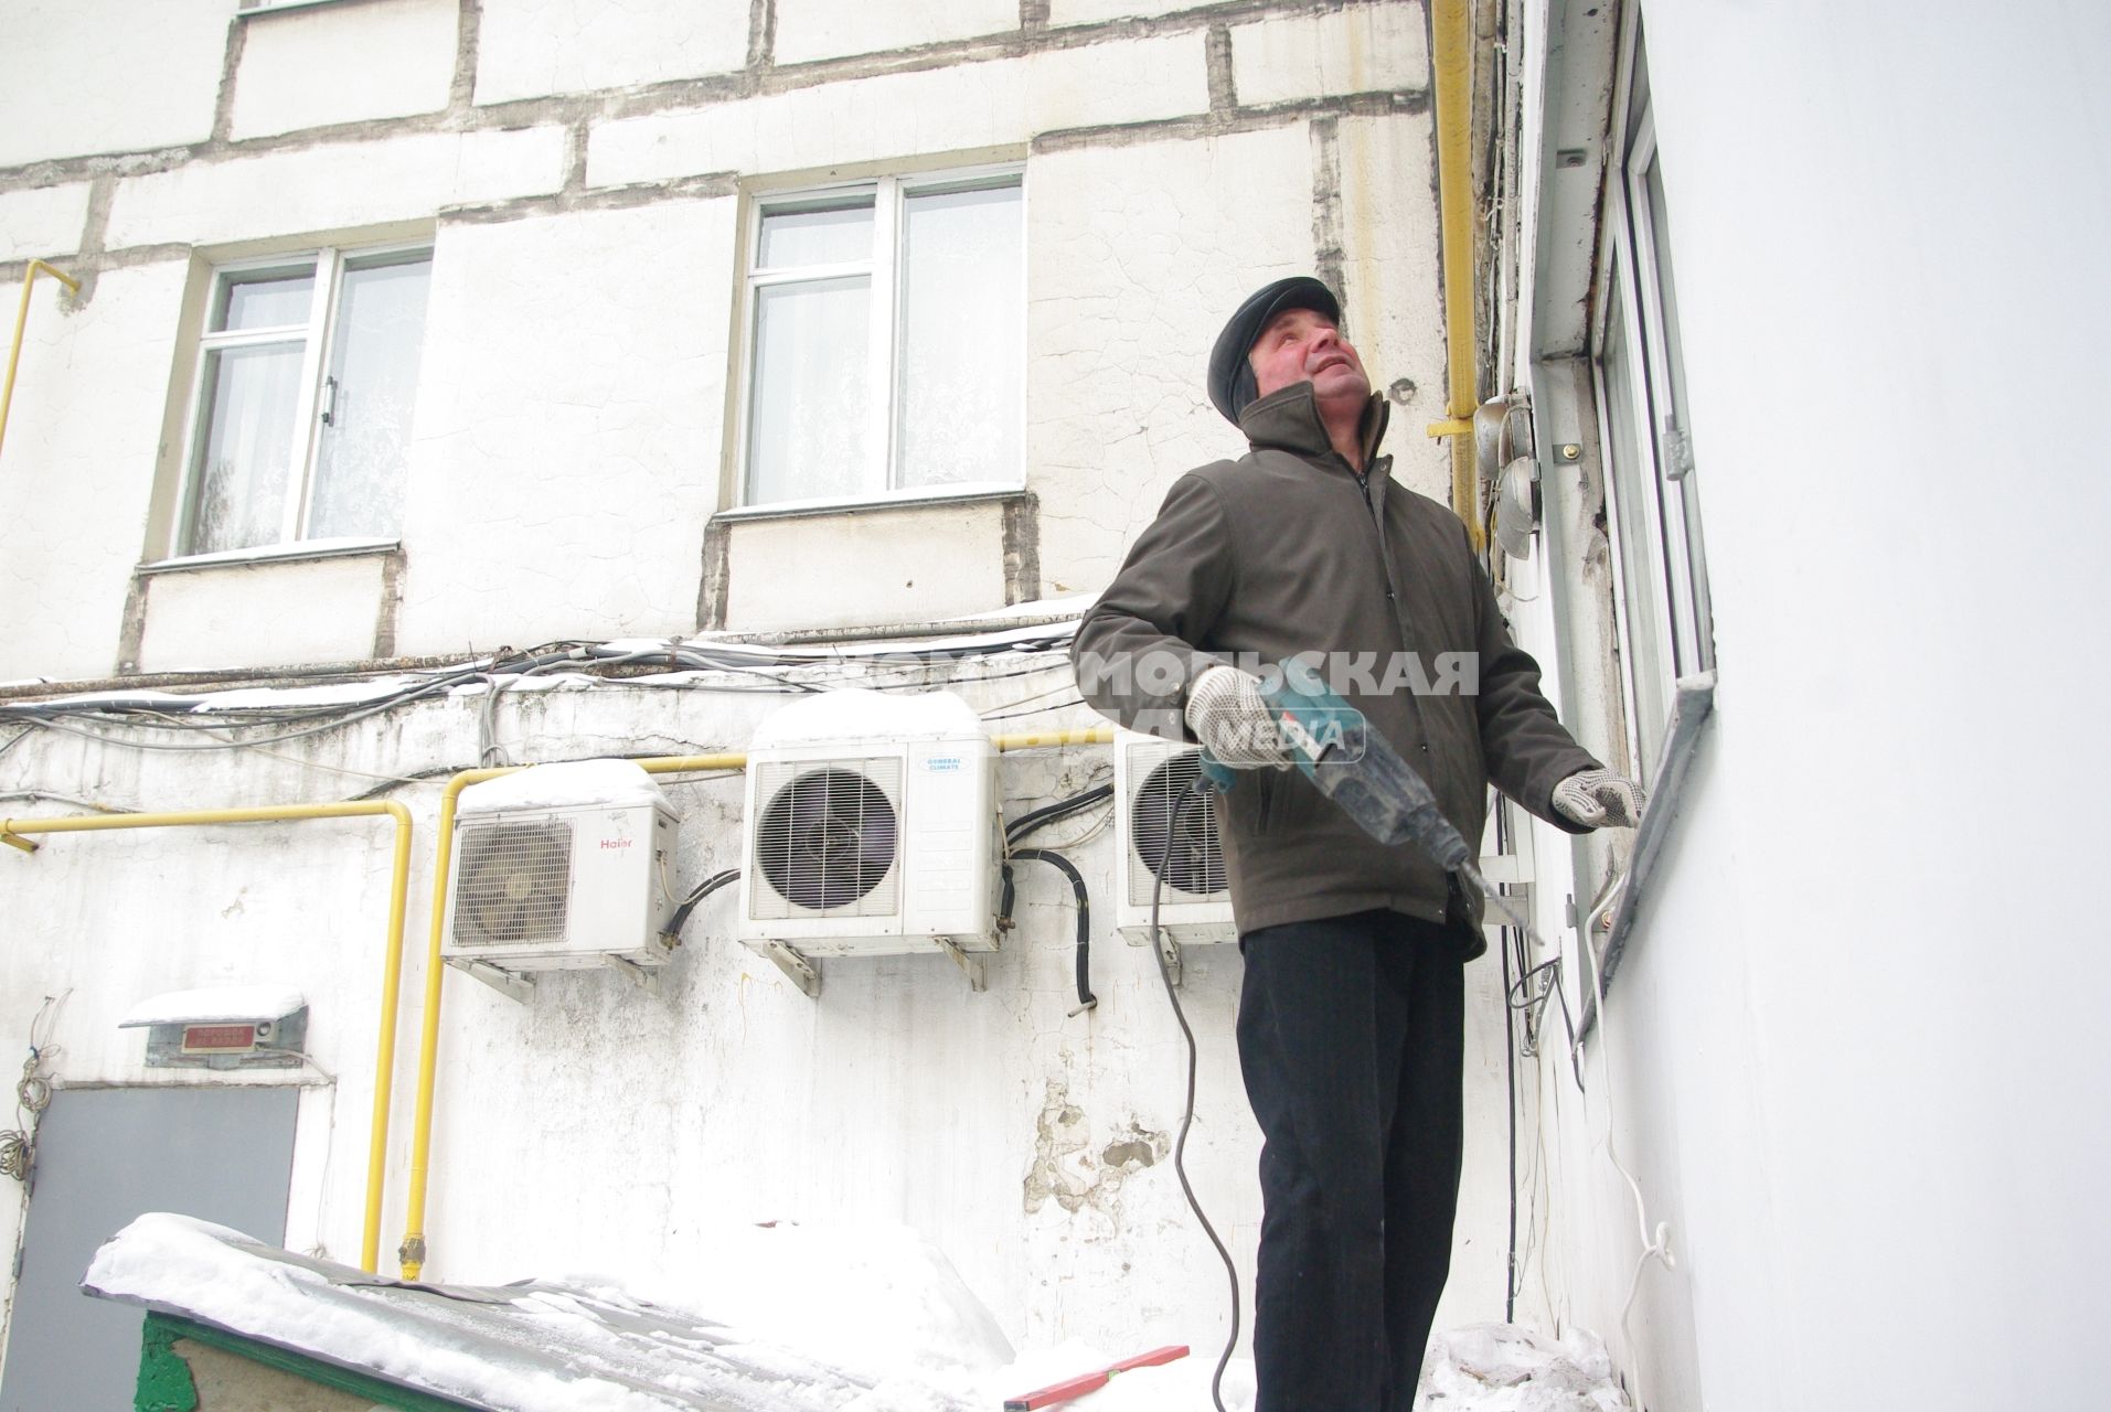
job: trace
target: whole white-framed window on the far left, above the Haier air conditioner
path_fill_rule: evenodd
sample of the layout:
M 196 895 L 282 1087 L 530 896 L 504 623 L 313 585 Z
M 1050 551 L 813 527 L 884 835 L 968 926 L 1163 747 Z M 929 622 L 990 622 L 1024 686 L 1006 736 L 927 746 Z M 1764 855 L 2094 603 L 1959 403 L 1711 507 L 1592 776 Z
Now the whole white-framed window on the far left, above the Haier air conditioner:
M 179 553 L 397 536 L 431 270 L 416 247 L 213 272 Z

